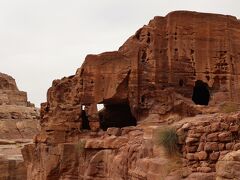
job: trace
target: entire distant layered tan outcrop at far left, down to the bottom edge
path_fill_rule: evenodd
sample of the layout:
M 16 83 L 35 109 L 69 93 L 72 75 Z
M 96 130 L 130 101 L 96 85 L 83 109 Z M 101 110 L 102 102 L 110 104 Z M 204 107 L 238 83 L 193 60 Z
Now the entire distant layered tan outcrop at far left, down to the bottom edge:
M 0 179 L 27 178 L 21 149 L 39 132 L 39 113 L 15 80 L 0 73 Z

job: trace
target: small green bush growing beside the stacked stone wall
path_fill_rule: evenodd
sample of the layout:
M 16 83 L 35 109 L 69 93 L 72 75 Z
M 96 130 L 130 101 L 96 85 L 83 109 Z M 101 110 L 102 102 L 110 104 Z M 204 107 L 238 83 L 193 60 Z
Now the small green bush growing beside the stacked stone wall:
M 159 129 L 156 140 L 157 144 L 162 145 L 169 155 L 176 155 L 178 153 L 178 137 L 174 128 L 165 127 Z

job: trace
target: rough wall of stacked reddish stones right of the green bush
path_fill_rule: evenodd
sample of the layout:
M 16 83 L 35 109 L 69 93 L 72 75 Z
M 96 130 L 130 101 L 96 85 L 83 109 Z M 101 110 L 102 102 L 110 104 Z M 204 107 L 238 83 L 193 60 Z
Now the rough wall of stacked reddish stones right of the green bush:
M 240 149 L 239 114 L 195 117 L 177 129 L 186 166 L 192 172 L 215 172 L 216 162 Z

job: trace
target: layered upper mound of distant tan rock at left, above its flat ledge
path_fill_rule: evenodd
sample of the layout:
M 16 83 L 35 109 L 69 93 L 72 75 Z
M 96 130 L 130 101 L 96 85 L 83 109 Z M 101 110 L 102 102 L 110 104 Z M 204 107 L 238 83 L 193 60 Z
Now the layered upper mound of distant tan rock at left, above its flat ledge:
M 1 139 L 31 139 L 38 132 L 38 109 L 19 91 L 15 80 L 0 73 Z

